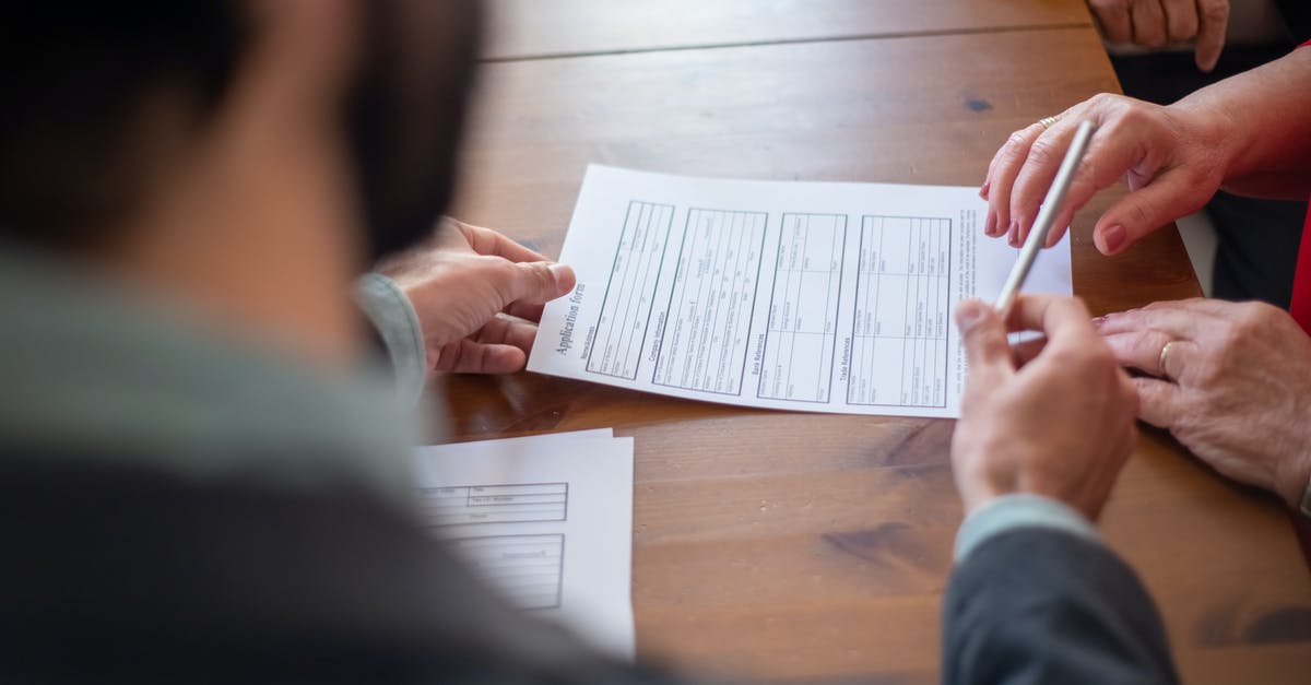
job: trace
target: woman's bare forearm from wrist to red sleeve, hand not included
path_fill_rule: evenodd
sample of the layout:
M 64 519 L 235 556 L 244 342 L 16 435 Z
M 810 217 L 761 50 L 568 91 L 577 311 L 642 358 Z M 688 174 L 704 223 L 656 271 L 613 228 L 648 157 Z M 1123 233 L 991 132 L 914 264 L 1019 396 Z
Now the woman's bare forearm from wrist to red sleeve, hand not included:
M 1224 189 L 1297 199 L 1311 193 L 1311 49 L 1197 91 L 1172 109 L 1223 127 Z

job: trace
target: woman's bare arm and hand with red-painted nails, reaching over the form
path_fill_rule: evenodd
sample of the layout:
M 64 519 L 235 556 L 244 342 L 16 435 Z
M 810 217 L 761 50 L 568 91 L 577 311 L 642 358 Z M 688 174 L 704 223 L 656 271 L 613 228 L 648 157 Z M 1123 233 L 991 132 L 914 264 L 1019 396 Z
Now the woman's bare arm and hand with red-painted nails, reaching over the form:
M 1304 198 L 1311 192 L 1311 51 L 1302 49 L 1168 106 L 1101 94 L 1050 126 L 1033 123 L 992 157 L 981 194 L 985 232 L 1028 236 L 1038 206 L 1083 119 L 1097 125 L 1057 217 L 1074 213 L 1121 178 L 1130 193 L 1097 220 L 1093 241 L 1114 255 L 1160 226 L 1201 209 L 1224 184 L 1244 193 Z M 1063 230 L 1053 231 L 1049 244 Z

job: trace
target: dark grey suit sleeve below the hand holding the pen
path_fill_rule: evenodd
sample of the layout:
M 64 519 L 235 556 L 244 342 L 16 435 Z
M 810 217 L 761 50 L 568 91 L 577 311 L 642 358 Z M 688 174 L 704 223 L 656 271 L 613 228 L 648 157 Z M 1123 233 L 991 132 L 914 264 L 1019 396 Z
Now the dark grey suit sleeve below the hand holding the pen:
M 943 612 L 948 684 L 1179 682 L 1142 583 L 1068 530 L 988 537 L 953 571 Z

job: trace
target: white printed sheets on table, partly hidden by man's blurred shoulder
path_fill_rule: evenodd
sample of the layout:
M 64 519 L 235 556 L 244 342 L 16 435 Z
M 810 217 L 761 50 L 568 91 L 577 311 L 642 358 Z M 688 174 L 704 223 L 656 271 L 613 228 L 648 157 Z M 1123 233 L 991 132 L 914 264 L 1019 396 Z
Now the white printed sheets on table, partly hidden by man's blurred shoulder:
M 633 438 L 608 429 L 420 447 L 433 533 L 511 605 L 635 655 Z

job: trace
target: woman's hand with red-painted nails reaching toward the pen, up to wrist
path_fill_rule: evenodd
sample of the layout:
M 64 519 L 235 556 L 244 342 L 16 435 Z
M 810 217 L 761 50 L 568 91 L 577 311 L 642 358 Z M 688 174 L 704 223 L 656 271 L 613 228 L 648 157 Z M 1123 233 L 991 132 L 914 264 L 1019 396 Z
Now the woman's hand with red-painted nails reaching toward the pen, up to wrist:
M 1023 244 L 1061 160 L 1083 119 L 1097 133 L 1075 172 L 1047 247 L 1065 234 L 1074 213 L 1092 196 L 1127 176 L 1127 196 L 1093 228 L 1093 243 L 1114 255 L 1139 238 L 1205 205 L 1224 180 L 1232 123 L 1210 109 L 1183 102 L 1163 108 L 1122 96 L 1099 94 L 1067 109 L 1049 129 L 1041 123 L 1011 134 L 992 157 L 979 194 L 988 202 L 983 232 Z

